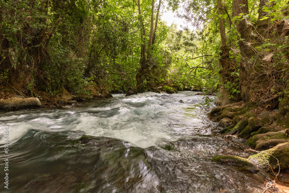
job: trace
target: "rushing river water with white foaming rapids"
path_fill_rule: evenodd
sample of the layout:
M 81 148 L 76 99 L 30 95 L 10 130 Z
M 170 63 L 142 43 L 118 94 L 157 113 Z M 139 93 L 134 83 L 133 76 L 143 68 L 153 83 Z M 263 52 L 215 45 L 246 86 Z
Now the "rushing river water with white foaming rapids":
M 248 147 L 216 135 L 195 94 L 116 94 L 0 113 L 1 155 L 4 125 L 10 155 L 9 189 L 1 156 L 0 192 L 262 192 L 271 174 L 210 162 L 215 155 L 248 157 Z

